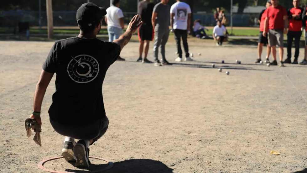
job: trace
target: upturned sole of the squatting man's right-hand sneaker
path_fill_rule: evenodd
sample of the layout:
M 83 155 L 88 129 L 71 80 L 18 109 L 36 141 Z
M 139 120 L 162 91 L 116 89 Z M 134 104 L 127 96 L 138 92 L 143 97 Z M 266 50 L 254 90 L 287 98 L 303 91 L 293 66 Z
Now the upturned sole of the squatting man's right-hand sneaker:
M 89 161 L 86 158 L 86 151 L 83 144 L 76 144 L 74 147 L 74 154 L 76 157 L 76 167 L 90 167 Z

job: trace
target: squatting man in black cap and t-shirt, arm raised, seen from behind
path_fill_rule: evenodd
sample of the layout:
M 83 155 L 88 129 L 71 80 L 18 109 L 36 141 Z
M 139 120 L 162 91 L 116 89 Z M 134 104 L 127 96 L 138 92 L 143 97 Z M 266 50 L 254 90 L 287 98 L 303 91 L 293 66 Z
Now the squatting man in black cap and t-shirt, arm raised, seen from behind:
M 62 156 L 75 162 L 77 167 L 89 167 L 89 145 L 101 138 L 109 125 L 101 92 L 107 69 L 142 25 L 136 15 L 119 39 L 104 42 L 96 35 L 106 14 L 105 9 L 94 3 L 81 5 L 76 15 L 80 34 L 55 42 L 43 64 L 34 93 L 30 118 L 41 125 L 44 94 L 56 73 L 49 121 L 57 133 L 66 136 Z M 75 143 L 75 139 L 80 140 Z

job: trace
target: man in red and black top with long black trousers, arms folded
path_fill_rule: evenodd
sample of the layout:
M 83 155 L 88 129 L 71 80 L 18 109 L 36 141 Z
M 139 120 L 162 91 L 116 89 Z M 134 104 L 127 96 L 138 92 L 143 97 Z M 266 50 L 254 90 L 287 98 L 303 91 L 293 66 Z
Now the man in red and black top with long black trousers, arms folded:
M 302 12 L 303 8 L 299 7 L 299 0 L 293 0 L 293 8 L 289 9 L 288 16 L 289 16 L 289 32 L 287 34 L 287 59 L 284 60 L 284 63 L 291 63 L 291 48 L 292 48 L 292 41 L 294 38 L 294 45 L 295 45 L 295 55 L 294 61 L 292 64 L 298 64 L 297 59 L 299 57 L 299 41 L 302 36 L 301 28 L 303 26 L 302 22 Z

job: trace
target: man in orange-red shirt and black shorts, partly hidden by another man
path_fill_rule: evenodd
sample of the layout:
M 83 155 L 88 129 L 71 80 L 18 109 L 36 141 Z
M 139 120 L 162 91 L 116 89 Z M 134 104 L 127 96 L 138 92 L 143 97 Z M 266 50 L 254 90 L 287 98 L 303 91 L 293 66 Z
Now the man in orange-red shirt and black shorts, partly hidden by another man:
M 268 0 L 266 3 L 265 7 L 268 9 L 271 6 L 271 1 Z M 263 45 L 267 45 L 267 56 L 265 57 L 266 61 L 269 62 L 269 56 L 271 54 L 271 47 L 268 45 L 268 38 L 263 36 L 263 29 L 264 29 L 264 21 L 266 18 L 266 9 L 263 9 L 261 13 L 259 14 L 258 22 L 260 23 L 260 32 L 259 32 L 259 41 L 258 41 L 258 59 L 256 60 L 255 63 L 261 62 L 261 54 L 262 54 L 262 48 Z M 268 29 L 267 29 L 268 32 Z

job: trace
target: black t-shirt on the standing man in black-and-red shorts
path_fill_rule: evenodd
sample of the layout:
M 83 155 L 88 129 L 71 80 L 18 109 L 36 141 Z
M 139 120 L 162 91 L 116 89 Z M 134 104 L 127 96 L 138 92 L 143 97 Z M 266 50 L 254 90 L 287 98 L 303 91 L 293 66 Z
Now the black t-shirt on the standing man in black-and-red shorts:
M 145 25 L 151 25 L 151 16 L 153 14 L 153 3 L 149 3 L 147 1 L 141 1 L 138 5 L 138 10 L 140 13 L 140 16 L 142 18 L 143 24 Z

